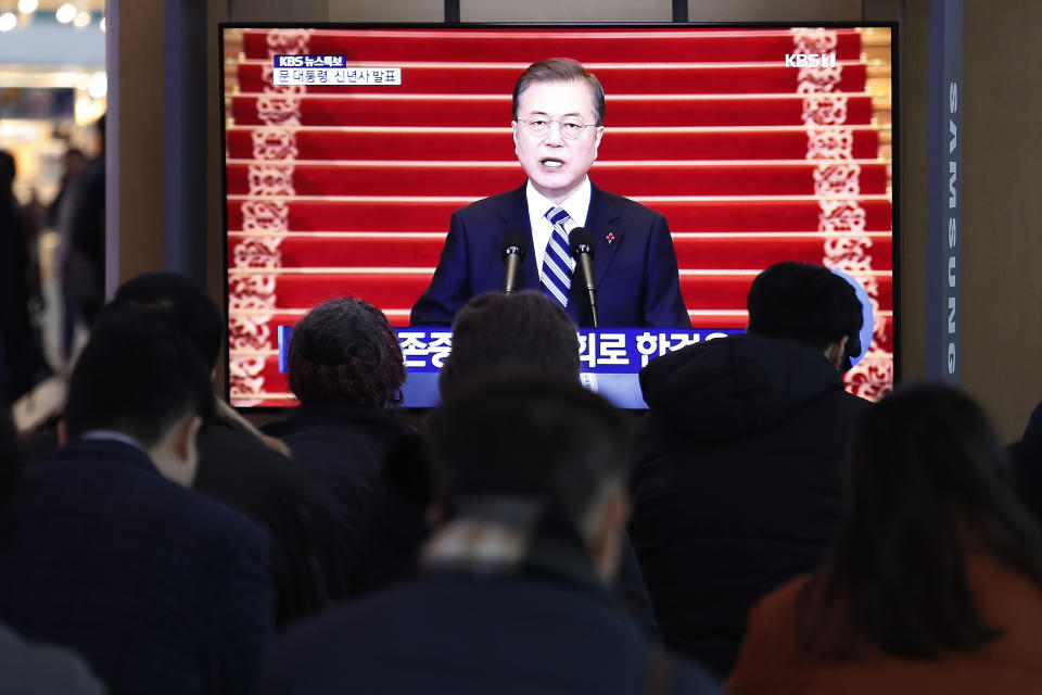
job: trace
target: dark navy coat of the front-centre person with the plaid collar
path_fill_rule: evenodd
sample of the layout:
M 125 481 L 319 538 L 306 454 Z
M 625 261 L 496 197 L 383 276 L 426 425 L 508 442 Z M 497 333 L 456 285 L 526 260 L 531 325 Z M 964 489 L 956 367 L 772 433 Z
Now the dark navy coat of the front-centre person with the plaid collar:
M 659 650 L 612 604 L 588 555 L 573 561 L 561 545 L 548 551 L 538 567 L 443 570 L 304 624 L 274 653 L 260 692 L 722 693 L 681 660 L 669 661 L 668 686 L 646 690 Z

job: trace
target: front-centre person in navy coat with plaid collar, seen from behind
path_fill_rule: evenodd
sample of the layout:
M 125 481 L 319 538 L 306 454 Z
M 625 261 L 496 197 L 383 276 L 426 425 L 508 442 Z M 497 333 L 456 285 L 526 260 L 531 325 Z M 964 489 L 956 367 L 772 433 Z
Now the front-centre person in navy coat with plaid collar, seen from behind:
M 428 430 L 441 522 L 421 578 L 292 633 L 260 692 L 720 693 L 649 646 L 608 598 L 627 432 L 567 377 L 462 384 Z

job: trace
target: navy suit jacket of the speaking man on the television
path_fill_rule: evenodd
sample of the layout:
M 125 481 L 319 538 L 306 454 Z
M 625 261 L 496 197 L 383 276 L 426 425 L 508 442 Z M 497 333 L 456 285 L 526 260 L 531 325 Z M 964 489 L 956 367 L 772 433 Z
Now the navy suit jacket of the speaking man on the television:
M 508 229 L 529 232 L 524 186 L 453 213 L 431 286 L 417 300 L 412 326 L 449 326 L 471 296 L 503 289 L 503 240 Z M 676 252 L 665 217 L 596 186 L 586 228 L 594 239 L 594 280 L 601 328 L 690 327 L 681 295 Z M 608 242 L 608 235 L 614 241 Z M 539 289 L 542 249 L 529 249 L 518 286 Z M 568 313 L 579 326 L 593 326 L 579 264 L 572 276 Z

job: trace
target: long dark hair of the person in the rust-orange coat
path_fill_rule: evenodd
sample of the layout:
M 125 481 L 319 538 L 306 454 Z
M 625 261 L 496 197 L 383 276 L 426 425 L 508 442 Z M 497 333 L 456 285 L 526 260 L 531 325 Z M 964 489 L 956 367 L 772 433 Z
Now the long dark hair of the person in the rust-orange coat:
M 999 631 L 978 611 L 965 564 L 981 546 L 1042 589 L 1042 531 L 969 396 L 899 387 L 865 414 L 850 452 L 831 561 L 801 595 L 805 646 L 867 637 L 901 657 L 982 646 Z M 846 632 L 824 636 L 837 616 Z

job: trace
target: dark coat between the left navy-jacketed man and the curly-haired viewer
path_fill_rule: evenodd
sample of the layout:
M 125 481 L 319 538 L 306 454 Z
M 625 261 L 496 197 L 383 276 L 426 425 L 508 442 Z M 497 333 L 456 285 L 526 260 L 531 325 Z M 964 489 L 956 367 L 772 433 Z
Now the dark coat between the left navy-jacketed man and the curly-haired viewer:
M 333 545 L 336 517 L 288 456 L 246 432 L 207 422 L 199 432 L 199 472 L 192 488 L 268 532 L 277 627 L 323 610 L 331 591 L 346 591 L 346 552 Z

